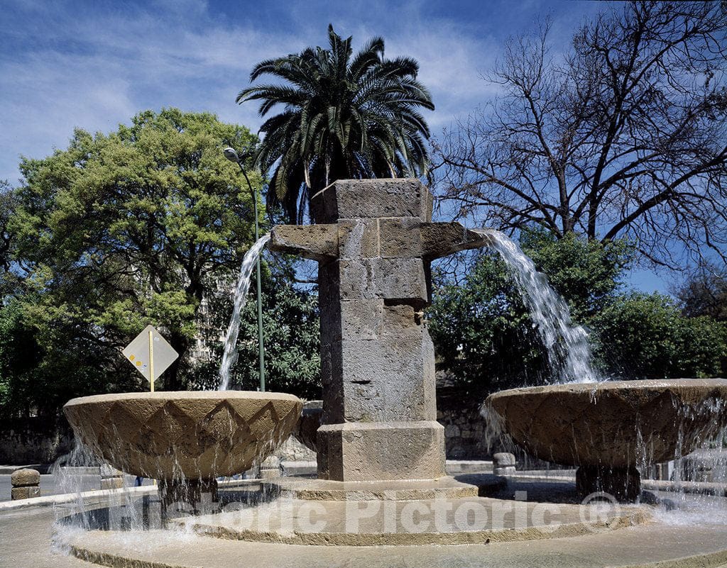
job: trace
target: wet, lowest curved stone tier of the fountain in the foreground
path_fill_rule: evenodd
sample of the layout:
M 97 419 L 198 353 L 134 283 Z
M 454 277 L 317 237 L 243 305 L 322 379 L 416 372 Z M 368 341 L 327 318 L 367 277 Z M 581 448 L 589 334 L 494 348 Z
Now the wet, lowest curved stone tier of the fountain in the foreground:
M 296 546 L 169 531 L 131 539 L 91 532 L 77 545 L 124 568 L 713 568 L 727 561 L 727 527 L 650 524 L 577 538 L 440 546 Z

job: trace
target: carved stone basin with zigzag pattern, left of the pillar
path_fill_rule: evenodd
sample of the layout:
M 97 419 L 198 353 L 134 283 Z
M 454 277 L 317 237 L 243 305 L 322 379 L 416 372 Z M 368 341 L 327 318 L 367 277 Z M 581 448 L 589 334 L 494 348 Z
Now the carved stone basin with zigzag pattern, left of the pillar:
M 172 481 L 246 471 L 289 436 L 301 408 L 292 394 L 159 391 L 72 399 L 63 412 L 114 467 Z

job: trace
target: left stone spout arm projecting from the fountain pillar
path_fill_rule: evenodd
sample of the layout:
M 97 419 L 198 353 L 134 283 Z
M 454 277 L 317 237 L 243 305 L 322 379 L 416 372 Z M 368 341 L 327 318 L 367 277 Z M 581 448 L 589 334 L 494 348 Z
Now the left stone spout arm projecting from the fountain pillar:
M 338 256 L 338 225 L 276 225 L 270 231 L 271 251 L 326 261 Z

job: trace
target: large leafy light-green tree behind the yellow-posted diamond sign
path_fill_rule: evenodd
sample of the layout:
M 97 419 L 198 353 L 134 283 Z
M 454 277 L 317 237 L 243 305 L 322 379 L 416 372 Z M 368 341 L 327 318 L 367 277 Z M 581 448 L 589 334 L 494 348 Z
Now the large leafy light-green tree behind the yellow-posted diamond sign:
M 23 319 L 47 353 L 87 344 L 113 365 L 109 350 L 152 323 L 180 353 L 166 388 L 184 386 L 201 301 L 253 240 L 252 198 L 222 148 L 255 142 L 214 115 L 166 109 L 23 159 L 8 228 Z

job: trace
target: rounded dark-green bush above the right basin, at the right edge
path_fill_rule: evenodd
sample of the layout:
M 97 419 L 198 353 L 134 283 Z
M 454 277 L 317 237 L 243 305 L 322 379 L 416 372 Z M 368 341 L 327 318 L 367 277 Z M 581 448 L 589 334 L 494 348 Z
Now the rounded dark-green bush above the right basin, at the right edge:
M 719 376 L 727 357 L 727 326 L 686 317 L 672 299 L 631 293 L 593 320 L 598 352 L 609 373 L 628 378 Z

